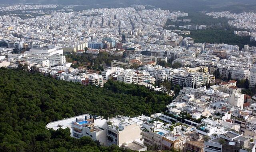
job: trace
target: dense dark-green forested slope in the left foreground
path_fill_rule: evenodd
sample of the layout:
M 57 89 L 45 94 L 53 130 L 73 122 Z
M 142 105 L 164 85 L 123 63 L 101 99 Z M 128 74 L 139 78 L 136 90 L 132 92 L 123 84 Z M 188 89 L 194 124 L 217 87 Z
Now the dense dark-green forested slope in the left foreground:
M 48 122 L 84 113 L 101 116 L 152 114 L 172 101 L 144 86 L 108 81 L 104 88 L 58 81 L 42 74 L 0 68 L 0 151 L 112 151 Z M 112 148 L 112 149 L 111 149 Z

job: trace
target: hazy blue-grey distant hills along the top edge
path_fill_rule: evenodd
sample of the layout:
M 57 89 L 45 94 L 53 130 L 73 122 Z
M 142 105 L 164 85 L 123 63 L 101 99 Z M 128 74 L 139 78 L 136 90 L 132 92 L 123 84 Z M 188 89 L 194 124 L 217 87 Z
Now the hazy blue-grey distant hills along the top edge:
M 41 4 L 62 4 L 62 5 L 95 5 L 111 7 L 115 4 L 146 4 L 153 5 L 166 10 L 186 10 L 186 11 L 223 11 L 243 12 L 247 7 L 256 5 L 256 0 L 0 0 L 3 4 L 14 3 L 41 3 Z M 239 6 L 239 7 L 238 7 Z M 255 12 L 255 7 L 250 7 L 249 11 Z

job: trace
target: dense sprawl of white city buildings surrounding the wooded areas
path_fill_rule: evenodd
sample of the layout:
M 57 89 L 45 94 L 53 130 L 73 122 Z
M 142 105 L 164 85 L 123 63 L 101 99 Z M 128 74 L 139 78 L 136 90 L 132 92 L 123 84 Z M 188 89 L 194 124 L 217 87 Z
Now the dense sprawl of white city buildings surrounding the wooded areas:
M 43 14 L 22 19 L 0 16 L 0 67 L 22 68 L 45 76 L 103 87 L 109 79 L 138 84 L 174 96 L 165 112 L 150 116 L 104 118 L 83 114 L 46 128 L 70 128 L 70 136 L 89 136 L 104 146 L 131 150 L 246 152 L 256 148 L 256 96 L 242 90 L 256 87 L 256 47 L 194 43 L 190 31 L 165 30 L 168 19 L 188 16 L 144 6 L 47 11 L 57 5 L 16 5 L 1 12 L 38 9 Z M 42 9 L 42 10 L 40 10 Z M 66 11 L 68 9 L 68 11 Z M 234 31 L 256 41 L 254 13 L 210 12 L 230 18 L 228 24 L 250 30 Z M 67 62 L 68 55 L 122 56 L 111 64 Z M 163 65 L 169 63 L 171 67 Z M 77 65 L 77 66 L 76 66 Z M 89 68 L 90 67 L 90 68 Z M 161 85 L 171 82 L 180 91 Z M 238 83 L 244 82 L 240 87 Z

